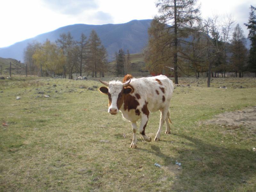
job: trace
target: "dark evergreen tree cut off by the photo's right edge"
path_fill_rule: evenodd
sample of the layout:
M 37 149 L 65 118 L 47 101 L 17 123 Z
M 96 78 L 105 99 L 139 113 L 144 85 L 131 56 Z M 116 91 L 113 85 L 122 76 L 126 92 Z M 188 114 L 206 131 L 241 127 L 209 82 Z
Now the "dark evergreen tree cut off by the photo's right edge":
M 249 29 L 248 38 L 251 40 L 251 47 L 249 51 L 248 70 L 255 73 L 256 76 L 256 7 L 251 5 L 251 12 L 248 23 L 244 23 Z

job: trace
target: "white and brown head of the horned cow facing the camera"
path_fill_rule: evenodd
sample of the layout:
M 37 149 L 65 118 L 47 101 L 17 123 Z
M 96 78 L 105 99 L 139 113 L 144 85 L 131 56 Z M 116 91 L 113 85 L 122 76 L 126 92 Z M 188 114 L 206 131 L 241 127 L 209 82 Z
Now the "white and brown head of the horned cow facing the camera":
M 100 92 L 108 95 L 108 113 L 111 115 L 116 115 L 119 112 L 119 109 L 124 103 L 124 94 L 132 92 L 132 88 L 128 87 L 131 82 L 131 79 L 122 83 L 120 81 L 110 81 L 109 83 L 101 81 L 100 82 L 107 87 L 100 87 Z

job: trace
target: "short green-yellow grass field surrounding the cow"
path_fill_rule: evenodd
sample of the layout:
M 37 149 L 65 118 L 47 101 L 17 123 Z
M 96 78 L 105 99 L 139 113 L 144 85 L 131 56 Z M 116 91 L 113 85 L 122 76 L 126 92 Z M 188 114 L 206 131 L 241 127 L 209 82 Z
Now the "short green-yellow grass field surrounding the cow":
M 179 81 L 171 134 L 130 149 L 131 124 L 87 89 L 98 81 L 0 80 L 0 191 L 255 191 L 255 134 L 202 122 L 256 106 L 256 79 L 214 78 L 211 88 L 203 78 Z M 151 138 L 159 115 L 150 114 Z

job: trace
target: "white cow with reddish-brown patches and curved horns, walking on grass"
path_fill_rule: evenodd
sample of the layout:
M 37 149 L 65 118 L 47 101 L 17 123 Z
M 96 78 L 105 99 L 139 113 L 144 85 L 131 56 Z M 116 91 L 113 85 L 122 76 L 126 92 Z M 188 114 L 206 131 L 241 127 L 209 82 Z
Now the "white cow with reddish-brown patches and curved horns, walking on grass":
M 123 83 L 120 81 L 100 82 L 107 87 L 100 87 L 100 92 L 108 95 L 108 113 L 116 115 L 119 111 L 125 119 L 132 123 L 133 139 L 130 148 L 137 147 L 137 121 L 140 119 L 140 134 L 144 140 L 150 142 L 146 136 L 145 128 L 150 112 L 160 110 L 160 125 L 155 141 L 160 140 L 160 133 L 164 121 L 166 122 L 165 134 L 170 134 L 170 100 L 172 98 L 173 84 L 166 76 L 132 78 L 126 75 Z M 169 122 L 168 122 L 169 121 Z

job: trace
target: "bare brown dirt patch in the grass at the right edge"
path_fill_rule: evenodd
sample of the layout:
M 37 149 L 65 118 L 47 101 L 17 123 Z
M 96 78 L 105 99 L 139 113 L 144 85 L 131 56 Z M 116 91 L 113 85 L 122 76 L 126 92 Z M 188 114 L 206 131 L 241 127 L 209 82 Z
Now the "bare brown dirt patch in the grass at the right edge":
M 256 133 L 256 106 L 245 108 L 234 112 L 225 112 L 214 116 L 206 124 L 220 124 L 227 127 L 227 130 L 235 130 L 245 127 L 251 133 Z

